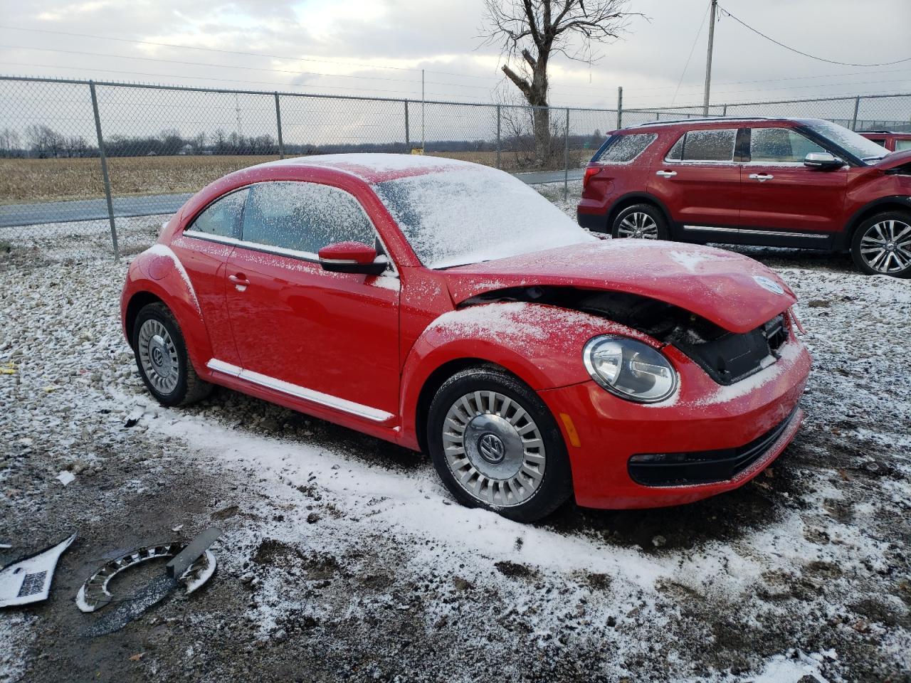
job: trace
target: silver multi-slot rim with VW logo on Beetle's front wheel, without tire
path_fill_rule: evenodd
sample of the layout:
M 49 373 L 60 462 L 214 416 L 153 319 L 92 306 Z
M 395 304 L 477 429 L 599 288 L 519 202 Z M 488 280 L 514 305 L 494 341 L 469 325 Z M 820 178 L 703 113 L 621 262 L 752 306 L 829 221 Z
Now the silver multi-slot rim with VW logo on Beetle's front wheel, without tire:
M 519 505 L 544 479 L 541 432 L 525 409 L 502 393 L 466 393 L 456 401 L 446 413 L 443 447 L 455 481 L 482 503 Z

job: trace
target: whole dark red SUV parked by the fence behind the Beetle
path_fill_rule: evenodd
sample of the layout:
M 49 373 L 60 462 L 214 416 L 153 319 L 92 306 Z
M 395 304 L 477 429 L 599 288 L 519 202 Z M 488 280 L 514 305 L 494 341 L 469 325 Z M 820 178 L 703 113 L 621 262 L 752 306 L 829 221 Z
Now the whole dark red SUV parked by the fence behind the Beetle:
M 911 277 L 911 150 L 816 118 L 701 118 L 614 131 L 579 225 L 613 237 L 850 250 Z

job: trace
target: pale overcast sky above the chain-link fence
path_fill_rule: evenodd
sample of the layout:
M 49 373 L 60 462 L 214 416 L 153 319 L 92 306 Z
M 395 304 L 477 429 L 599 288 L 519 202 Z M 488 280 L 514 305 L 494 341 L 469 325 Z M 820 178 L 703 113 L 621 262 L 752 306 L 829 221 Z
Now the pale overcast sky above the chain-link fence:
M 701 103 L 708 5 L 630 0 L 629 10 L 647 18 L 633 18 L 628 35 L 600 47 L 603 58 L 590 68 L 556 59 L 551 104 L 613 107 L 618 86 L 627 107 Z M 763 33 L 828 59 L 867 64 L 911 56 L 911 0 L 721 5 Z M 428 99 L 483 102 L 501 98 L 506 85 L 498 48 L 478 37 L 482 0 L 0 0 L 0 9 L 6 75 L 419 98 L 423 68 Z M 715 29 L 712 74 L 712 102 L 911 92 L 911 62 L 824 64 L 724 15 Z

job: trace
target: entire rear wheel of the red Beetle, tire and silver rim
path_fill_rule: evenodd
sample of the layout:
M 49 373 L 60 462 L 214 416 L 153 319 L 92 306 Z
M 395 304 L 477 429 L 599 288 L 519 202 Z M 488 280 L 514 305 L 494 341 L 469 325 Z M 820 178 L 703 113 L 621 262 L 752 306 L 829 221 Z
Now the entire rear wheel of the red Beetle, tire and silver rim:
M 174 314 L 160 301 L 142 307 L 132 330 L 139 376 L 162 405 L 189 405 L 204 399 L 212 385 L 203 382 L 187 355 Z

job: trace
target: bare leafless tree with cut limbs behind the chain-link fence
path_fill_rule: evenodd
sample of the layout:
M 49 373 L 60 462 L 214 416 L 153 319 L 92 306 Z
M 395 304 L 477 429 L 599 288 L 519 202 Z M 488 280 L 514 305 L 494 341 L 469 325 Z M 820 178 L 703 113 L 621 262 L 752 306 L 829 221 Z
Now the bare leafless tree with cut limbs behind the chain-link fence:
M 586 64 L 599 60 L 598 44 L 623 34 L 629 0 L 485 0 L 486 43 L 501 45 L 503 73 L 534 110 L 535 149 L 539 162 L 551 154 L 548 63 L 563 55 Z M 519 60 L 521 57 L 521 60 Z M 510 61 L 518 61 L 517 70 Z

